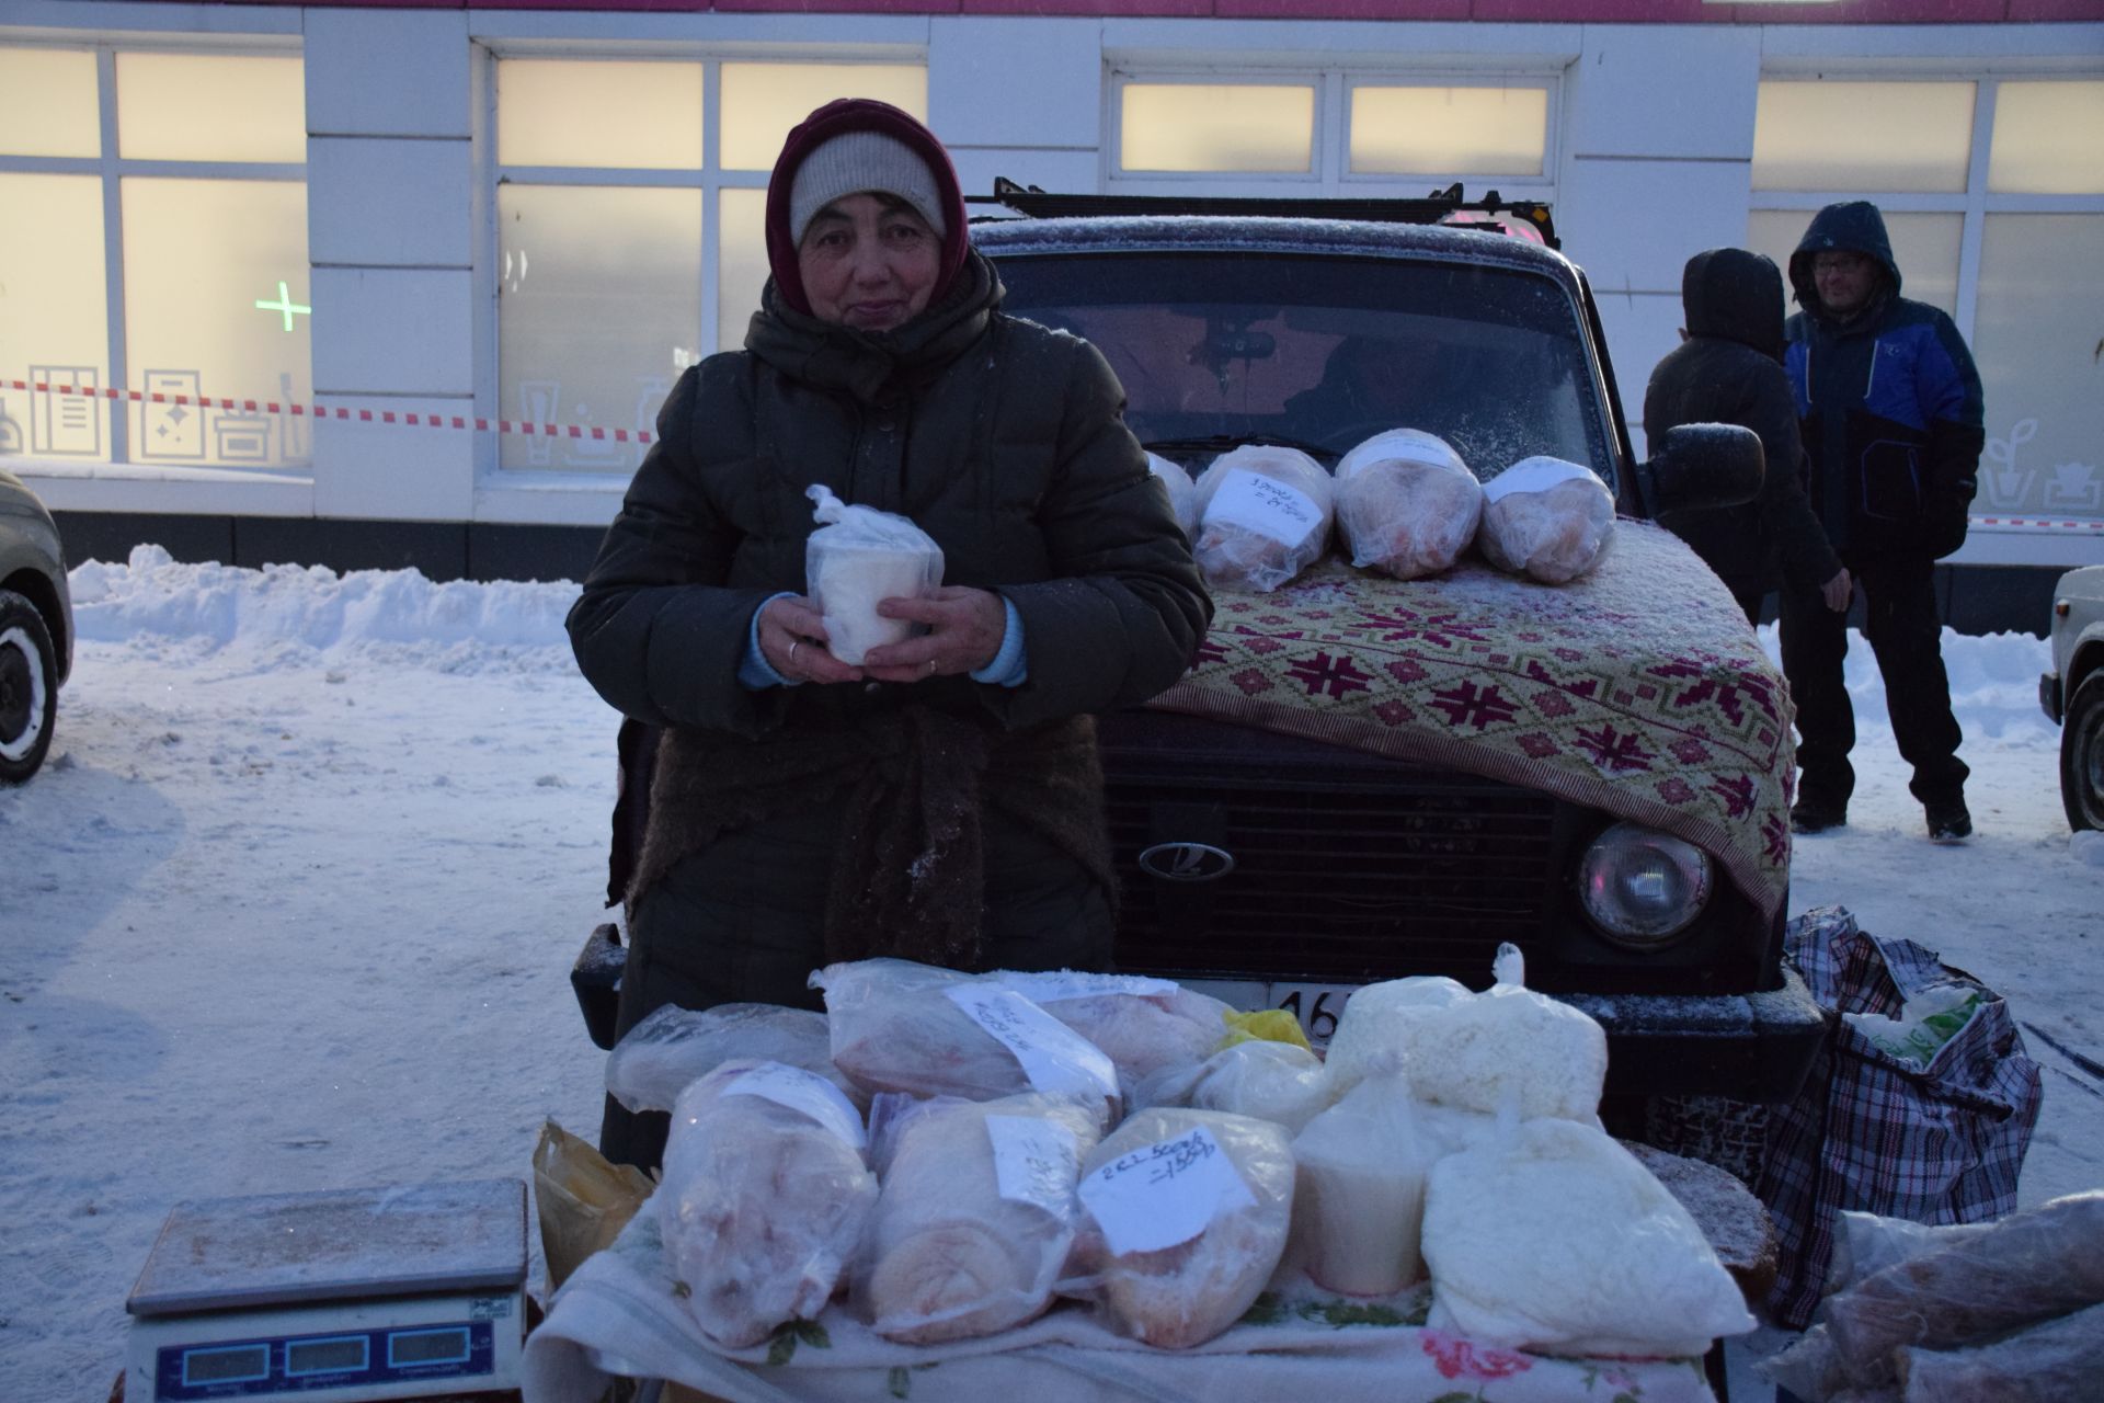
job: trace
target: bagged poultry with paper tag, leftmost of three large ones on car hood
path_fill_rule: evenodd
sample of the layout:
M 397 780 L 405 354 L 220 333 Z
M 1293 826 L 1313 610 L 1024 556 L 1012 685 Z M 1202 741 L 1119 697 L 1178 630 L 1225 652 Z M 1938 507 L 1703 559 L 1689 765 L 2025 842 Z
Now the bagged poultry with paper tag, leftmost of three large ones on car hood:
M 1208 585 L 1269 593 L 1330 545 L 1334 486 L 1298 448 L 1243 444 L 1197 475 L 1191 553 Z

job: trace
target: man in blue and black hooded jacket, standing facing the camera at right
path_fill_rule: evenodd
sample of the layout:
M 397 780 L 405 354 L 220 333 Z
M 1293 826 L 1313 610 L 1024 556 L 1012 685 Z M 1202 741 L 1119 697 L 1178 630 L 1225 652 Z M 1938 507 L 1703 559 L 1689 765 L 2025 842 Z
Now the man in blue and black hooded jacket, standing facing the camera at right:
M 1885 679 L 1885 709 L 1929 837 L 1971 835 L 1959 721 L 1936 610 L 1936 562 L 1965 543 L 1986 442 L 1980 372 L 1957 326 L 1900 297 L 1875 204 L 1828 204 L 1791 255 L 1803 311 L 1788 322 L 1784 368 L 1812 459 L 1812 507 L 1864 602 L 1864 637 Z M 1797 703 L 1797 804 L 1791 827 L 1847 822 L 1856 715 L 1841 663 L 1847 616 L 1816 589 L 1782 589 L 1782 671 Z

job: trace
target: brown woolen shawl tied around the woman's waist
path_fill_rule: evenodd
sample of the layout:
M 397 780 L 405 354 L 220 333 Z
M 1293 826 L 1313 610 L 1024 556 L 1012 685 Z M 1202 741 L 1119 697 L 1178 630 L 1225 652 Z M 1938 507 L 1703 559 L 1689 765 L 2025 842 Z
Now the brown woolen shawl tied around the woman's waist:
M 816 808 L 839 808 L 827 961 L 978 968 L 989 810 L 1069 854 L 1117 907 L 1094 717 L 993 732 L 909 705 L 757 740 L 667 730 L 627 913 L 722 833 Z

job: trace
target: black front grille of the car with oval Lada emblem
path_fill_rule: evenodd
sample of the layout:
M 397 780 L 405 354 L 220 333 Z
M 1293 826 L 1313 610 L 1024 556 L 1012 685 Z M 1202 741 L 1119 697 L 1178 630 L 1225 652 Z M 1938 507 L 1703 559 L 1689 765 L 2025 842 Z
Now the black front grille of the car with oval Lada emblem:
M 1481 982 L 1500 942 L 1544 940 L 1563 867 L 1549 795 L 1197 717 L 1105 717 L 1102 738 L 1128 970 Z M 1145 873 L 1164 841 L 1235 869 Z

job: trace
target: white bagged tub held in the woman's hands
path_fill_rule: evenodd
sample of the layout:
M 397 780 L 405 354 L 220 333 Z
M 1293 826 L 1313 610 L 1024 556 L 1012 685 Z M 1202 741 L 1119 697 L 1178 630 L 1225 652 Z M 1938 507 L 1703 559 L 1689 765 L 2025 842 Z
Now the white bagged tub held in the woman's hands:
M 882 644 L 913 635 L 917 625 L 884 618 L 877 604 L 924 595 L 943 583 L 943 547 L 903 515 L 850 507 L 831 488 L 812 484 L 818 530 L 804 543 L 804 593 L 825 614 L 825 648 L 848 665 Z

